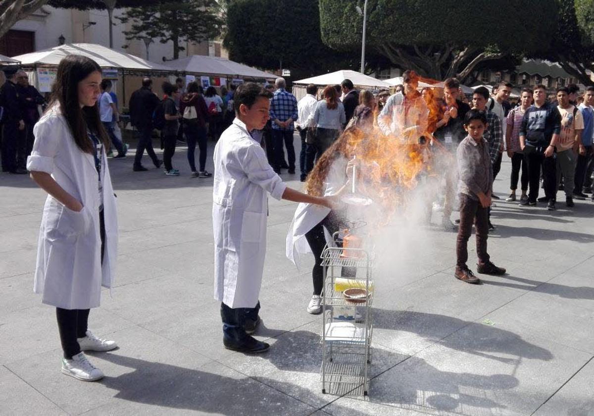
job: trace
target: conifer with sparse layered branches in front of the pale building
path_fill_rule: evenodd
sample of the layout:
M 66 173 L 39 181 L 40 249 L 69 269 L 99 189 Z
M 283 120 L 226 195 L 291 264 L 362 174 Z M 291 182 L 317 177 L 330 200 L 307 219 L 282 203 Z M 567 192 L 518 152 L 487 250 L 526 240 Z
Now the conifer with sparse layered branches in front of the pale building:
M 184 42 L 202 42 L 219 36 L 223 21 L 215 0 L 160 1 L 155 5 L 129 8 L 119 20 L 132 23 L 126 39 L 158 38 L 173 43 L 173 59 L 184 51 Z

